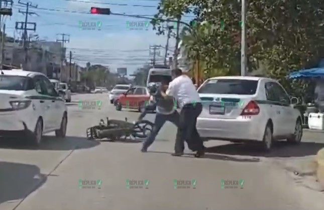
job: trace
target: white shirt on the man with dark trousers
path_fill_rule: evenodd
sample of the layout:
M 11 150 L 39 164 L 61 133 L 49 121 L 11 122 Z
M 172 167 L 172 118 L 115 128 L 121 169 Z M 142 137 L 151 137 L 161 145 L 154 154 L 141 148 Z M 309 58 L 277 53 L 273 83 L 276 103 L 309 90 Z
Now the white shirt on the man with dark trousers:
M 196 87 L 187 75 L 181 75 L 173 79 L 169 83 L 166 94 L 175 97 L 180 108 L 187 103 L 201 102 Z

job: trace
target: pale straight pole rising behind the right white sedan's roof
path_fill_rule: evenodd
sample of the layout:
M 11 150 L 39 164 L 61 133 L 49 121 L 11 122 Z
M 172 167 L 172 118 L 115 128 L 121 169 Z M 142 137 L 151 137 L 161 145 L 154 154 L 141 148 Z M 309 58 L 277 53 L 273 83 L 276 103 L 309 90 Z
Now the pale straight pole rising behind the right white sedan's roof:
M 247 64 L 247 57 L 246 57 L 246 25 L 245 25 L 245 15 L 246 13 L 246 0 L 242 0 L 242 20 L 241 20 L 241 27 L 242 27 L 242 34 L 241 34 L 241 76 L 245 76 L 246 74 L 246 64 Z

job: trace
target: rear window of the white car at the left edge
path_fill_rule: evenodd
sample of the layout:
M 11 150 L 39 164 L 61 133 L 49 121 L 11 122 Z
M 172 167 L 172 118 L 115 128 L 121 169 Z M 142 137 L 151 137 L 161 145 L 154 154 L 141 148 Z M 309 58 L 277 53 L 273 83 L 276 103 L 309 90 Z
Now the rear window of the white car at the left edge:
M 31 90 L 34 89 L 32 78 L 26 76 L 0 75 L 1 90 Z

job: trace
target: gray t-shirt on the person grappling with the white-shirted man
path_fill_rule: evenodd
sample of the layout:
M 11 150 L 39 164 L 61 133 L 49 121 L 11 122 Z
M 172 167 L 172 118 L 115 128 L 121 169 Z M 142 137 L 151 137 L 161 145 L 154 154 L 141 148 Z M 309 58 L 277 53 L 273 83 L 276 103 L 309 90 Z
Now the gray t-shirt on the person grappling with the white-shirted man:
M 163 98 L 161 92 L 158 91 L 156 95 L 153 96 L 156 101 L 156 112 L 162 115 L 170 115 L 176 110 L 174 106 L 174 98 L 168 96 L 167 99 Z

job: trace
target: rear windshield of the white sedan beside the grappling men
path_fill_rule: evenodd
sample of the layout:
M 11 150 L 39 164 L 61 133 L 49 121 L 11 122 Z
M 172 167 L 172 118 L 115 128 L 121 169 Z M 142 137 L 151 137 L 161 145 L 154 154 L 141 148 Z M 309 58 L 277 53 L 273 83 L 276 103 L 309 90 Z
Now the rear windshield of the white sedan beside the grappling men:
M 198 90 L 199 93 L 253 95 L 258 80 L 247 79 L 212 79 Z

